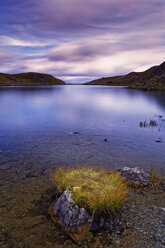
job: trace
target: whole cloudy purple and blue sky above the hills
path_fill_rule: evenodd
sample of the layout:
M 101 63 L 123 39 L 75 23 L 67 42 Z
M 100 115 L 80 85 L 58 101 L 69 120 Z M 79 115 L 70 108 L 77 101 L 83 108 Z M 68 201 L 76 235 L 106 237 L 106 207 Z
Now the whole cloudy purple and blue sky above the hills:
M 0 72 L 82 83 L 164 55 L 164 0 L 0 0 Z

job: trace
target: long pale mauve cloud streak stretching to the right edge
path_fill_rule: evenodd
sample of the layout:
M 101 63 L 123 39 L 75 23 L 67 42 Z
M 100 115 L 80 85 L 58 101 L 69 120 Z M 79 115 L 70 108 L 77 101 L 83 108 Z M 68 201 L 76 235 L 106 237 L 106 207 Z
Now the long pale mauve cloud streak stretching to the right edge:
M 73 42 L 64 42 L 52 48 L 48 52 L 48 58 L 52 61 L 91 61 L 102 56 L 106 58 L 123 51 L 148 50 L 156 47 L 165 48 L 163 37 L 159 37 L 157 32 L 154 32 L 154 34 L 152 34 L 153 37 L 151 38 L 148 32 L 143 35 L 128 32 L 122 35 L 104 35 L 97 37 L 97 40 L 94 36 L 91 36 L 90 40 L 86 38 Z

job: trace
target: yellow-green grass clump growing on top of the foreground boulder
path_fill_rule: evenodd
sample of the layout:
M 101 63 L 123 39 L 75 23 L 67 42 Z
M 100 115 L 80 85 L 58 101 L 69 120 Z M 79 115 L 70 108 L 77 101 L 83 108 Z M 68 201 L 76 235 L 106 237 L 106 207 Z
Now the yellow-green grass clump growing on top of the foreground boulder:
M 69 189 L 74 202 L 93 214 L 120 209 L 127 199 L 124 178 L 103 168 L 60 168 L 53 178 L 59 192 Z

